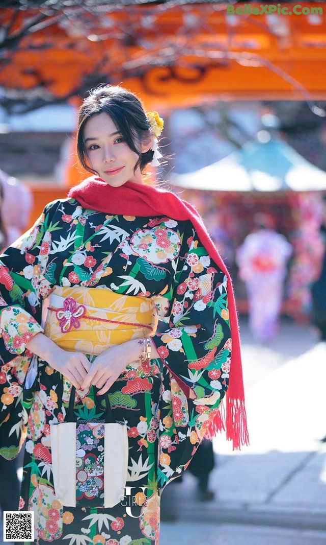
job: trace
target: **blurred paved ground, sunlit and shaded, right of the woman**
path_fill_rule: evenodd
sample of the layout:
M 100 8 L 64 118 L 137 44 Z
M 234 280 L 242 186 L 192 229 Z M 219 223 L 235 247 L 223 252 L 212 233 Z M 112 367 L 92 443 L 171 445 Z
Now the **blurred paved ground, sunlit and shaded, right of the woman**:
M 213 501 L 198 501 L 190 474 L 166 489 L 178 519 L 162 523 L 161 543 L 175 532 L 181 545 L 326 543 L 326 343 L 287 319 L 269 346 L 245 321 L 241 337 L 251 445 L 214 441 Z

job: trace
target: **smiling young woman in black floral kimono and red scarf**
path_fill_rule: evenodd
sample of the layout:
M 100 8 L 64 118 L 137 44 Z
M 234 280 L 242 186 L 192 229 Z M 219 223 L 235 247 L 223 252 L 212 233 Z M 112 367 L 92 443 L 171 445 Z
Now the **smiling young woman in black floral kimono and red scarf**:
M 160 492 L 223 427 L 228 385 L 227 435 L 236 448 L 248 441 L 228 272 L 190 204 L 143 176 L 160 156 L 161 129 L 126 89 L 90 92 L 77 146 L 92 177 L 49 203 L 1 257 L 1 401 L 11 435 L 0 453 L 17 452 L 10 408 L 26 418 L 31 405 L 20 508 L 34 511 L 39 545 L 156 545 Z M 21 386 L 35 365 L 31 401 Z M 65 420 L 72 385 L 76 415 L 101 414 L 109 392 L 128 429 L 126 495 L 112 508 L 88 501 L 101 498 L 103 483 L 87 474 L 85 452 L 76 507 L 55 495 L 50 428 Z

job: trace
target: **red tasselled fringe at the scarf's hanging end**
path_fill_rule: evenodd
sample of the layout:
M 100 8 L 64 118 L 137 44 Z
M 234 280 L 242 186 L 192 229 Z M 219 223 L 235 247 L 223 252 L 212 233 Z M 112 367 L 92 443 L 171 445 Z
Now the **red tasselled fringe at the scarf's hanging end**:
M 210 423 L 205 437 L 213 439 L 218 433 L 226 431 L 227 440 L 232 441 L 233 450 L 249 445 L 247 414 L 244 399 L 227 397 L 226 408 L 222 403 L 214 419 Z

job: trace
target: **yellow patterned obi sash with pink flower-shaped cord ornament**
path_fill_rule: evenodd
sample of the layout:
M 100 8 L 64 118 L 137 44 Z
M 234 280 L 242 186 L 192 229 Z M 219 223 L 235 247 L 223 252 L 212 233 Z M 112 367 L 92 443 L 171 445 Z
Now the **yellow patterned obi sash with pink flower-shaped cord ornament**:
M 149 298 L 107 288 L 55 286 L 44 331 L 64 350 L 98 355 L 110 346 L 154 335 L 157 324 Z

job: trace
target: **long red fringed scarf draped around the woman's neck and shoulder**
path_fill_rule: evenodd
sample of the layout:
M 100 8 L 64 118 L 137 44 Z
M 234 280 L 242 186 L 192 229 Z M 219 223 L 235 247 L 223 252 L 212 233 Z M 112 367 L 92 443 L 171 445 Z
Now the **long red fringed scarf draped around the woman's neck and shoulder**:
M 233 441 L 233 448 L 249 444 L 245 408 L 245 393 L 243 391 L 239 325 L 231 278 L 202 218 L 191 204 L 183 201 L 171 191 L 157 187 L 127 181 L 120 187 L 111 187 L 101 178 L 92 176 L 81 184 L 73 187 L 68 197 L 75 198 L 83 208 L 90 208 L 105 214 L 121 214 L 125 216 L 167 216 L 173 220 L 190 220 L 195 227 L 199 240 L 228 278 L 227 295 L 230 314 L 232 338 L 231 366 L 229 387 L 226 394 L 225 408 L 218 411 L 210 426 L 208 435 L 212 437 L 216 431 L 225 429 L 227 439 Z

